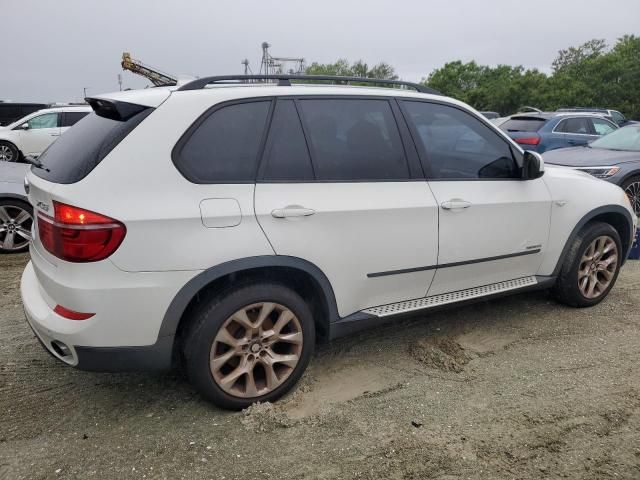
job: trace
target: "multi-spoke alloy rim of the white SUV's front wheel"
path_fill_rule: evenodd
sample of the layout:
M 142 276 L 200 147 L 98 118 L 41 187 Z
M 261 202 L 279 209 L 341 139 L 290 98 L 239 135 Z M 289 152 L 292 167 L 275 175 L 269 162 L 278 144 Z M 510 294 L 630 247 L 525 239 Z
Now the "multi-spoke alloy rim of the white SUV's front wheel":
M 593 240 L 580 260 L 578 288 L 585 298 L 598 298 L 607 291 L 618 268 L 618 247 L 609 236 Z

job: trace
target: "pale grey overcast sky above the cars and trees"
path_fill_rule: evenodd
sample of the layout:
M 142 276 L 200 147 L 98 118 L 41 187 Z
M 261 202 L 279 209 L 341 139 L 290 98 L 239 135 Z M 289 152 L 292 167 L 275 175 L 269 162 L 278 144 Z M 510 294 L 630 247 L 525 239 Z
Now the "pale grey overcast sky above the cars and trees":
M 260 44 L 308 63 L 386 61 L 418 81 L 447 61 L 548 72 L 558 50 L 640 33 L 639 0 L 0 0 L 0 99 L 77 101 L 148 82 L 123 51 L 172 74 L 257 72 Z

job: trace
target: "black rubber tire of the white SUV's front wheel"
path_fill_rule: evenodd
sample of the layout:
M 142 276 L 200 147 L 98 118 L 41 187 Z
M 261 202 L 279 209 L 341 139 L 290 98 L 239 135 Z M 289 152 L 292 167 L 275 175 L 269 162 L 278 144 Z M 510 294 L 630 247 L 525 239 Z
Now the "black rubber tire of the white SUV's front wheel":
M 611 276 L 607 278 L 608 283 L 606 286 L 601 290 L 595 290 L 593 296 L 588 296 L 585 294 L 584 289 L 581 288 L 581 281 L 584 281 L 584 275 L 581 274 L 581 272 L 589 272 L 589 275 L 595 274 L 597 277 L 602 273 L 599 272 L 599 265 L 613 258 L 610 250 L 604 256 L 594 254 L 593 260 L 587 260 L 590 257 L 589 249 L 594 242 L 598 242 L 599 239 L 609 239 L 609 246 L 615 244 L 616 258 L 615 261 L 610 262 L 612 266 L 615 266 L 615 270 L 612 268 L 611 272 L 607 272 L 607 275 L 610 274 Z M 597 305 L 606 298 L 611 288 L 615 285 L 618 274 L 620 273 L 621 263 L 622 243 L 620 242 L 620 235 L 617 230 L 604 222 L 588 223 L 578 233 L 569 247 L 569 251 L 562 263 L 560 274 L 553 287 L 553 294 L 558 301 L 572 307 L 591 307 Z M 604 279 L 605 276 L 601 275 L 601 277 L 597 278 Z

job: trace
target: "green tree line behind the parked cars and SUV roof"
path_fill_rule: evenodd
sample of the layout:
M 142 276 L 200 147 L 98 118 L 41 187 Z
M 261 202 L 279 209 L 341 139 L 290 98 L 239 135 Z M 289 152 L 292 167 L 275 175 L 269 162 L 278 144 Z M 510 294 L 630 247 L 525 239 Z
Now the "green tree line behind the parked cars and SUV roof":
M 362 60 L 312 63 L 305 73 L 398 79 L 388 63 L 370 67 Z M 611 47 L 594 39 L 560 50 L 550 74 L 522 65 L 456 60 L 431 72 L 422 83 L 478 110 L 501 115 L 515 113 L 524 105 L 542 110 L 602 107 L 640 119 L 640 37 L 625 35 Z

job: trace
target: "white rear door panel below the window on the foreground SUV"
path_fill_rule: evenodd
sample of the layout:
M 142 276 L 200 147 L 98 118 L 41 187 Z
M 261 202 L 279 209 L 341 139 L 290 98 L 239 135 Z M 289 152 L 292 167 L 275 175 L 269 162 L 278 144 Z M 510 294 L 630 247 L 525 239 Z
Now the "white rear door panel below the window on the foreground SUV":
M 433 278 L 433 269 L 391 274 L 436 264 L 438 207 L 424 181 L 258 184 L 255 211 L 276 254 L 324 272 L 343 317 L 423 297 Z

